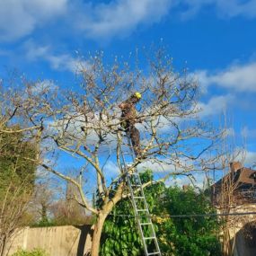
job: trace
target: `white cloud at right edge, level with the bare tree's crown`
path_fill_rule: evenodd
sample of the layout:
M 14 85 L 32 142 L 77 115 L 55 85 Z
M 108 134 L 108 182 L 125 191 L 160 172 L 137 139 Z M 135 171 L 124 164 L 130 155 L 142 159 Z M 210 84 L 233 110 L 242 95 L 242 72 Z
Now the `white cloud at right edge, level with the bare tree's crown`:
M 224 71 L 210 74 L 206 70 L 196 72 L 200 84 L 207 87 L 216 84 L 226 89 L 237 92 L 256 93 L 256 62 L 246 65 L 233 65 Z

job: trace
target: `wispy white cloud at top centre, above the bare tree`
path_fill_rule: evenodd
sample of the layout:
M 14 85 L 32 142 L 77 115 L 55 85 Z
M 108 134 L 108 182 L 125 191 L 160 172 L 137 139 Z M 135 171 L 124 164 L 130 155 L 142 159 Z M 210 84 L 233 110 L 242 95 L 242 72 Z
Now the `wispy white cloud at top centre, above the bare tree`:
M 73 15 L 75 29 L 93 39 L 122 37 L 137 29 L 139 24 L 160 22 L 169 13 L 170 0 L 119 0 L 108 4 L 80 4 Z M 78 11 L 78 13 L 77 13 Z

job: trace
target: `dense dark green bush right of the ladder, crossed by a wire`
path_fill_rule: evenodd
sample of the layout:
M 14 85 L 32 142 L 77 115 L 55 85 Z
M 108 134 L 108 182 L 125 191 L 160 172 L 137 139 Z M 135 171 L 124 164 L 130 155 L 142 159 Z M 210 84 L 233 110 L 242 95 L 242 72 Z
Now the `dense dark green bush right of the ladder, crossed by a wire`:
M 158 214 L 204 215 L 215 214 L 209 200 L 193 188 L 181 190 L 170 187 L 160 203 Z M 216 216 L 186 216 L 158 219 L 158 238 L 166 255 L 217 256 L 221 255 L 218 240 L 219 223 Z

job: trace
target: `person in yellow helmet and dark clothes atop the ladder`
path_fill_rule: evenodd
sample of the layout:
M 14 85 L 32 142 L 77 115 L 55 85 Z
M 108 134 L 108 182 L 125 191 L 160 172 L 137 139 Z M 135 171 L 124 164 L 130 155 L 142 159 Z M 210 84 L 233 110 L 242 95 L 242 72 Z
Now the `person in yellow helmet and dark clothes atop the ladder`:
M 141 122 L 141 120 L 137 118 L 137 110 L 135 106 L 140 99 L 141 93 L 134 93 L 128 98 L 128 100 L 119 104 L 119 108 L 122 110 L 120 118 L 121 127 L 124 128 L 128 137 L 130 138 L 134 153 L 138 158 L 141 157 L 141 149 L 139 131 L 135 127 L 135 124 L 137 122 Z

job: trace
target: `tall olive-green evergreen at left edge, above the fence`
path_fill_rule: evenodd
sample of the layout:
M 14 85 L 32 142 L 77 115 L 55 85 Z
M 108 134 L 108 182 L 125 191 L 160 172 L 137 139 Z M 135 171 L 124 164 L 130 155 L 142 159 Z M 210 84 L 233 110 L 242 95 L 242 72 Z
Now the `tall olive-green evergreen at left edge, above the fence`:
M 29 222 L 25 208 L 34 188 L 35 145 L 21 132 L 0 133 L 0 255 L 16 228 Z

